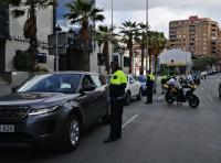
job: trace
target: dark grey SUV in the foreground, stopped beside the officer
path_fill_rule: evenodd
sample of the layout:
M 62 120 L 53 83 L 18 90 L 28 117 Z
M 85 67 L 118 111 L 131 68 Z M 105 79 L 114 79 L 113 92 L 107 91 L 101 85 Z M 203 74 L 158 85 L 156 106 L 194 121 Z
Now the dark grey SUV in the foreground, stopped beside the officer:
M 105 121 L 107 91 L 95 73 L 36 75 L 0 97 L 0 143 L 75 150 L 82 130 Z

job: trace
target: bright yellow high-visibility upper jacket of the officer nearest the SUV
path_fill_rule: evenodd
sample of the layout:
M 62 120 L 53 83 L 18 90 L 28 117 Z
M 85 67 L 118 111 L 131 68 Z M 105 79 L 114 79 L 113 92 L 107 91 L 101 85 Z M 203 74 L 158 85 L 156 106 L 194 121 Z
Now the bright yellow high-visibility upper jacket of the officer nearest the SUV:
M 110 84 L 112 85 L 122 85 L 122 84 L 127 84 L 127 76 L 123 70 L 116 70 L 110 78 Z

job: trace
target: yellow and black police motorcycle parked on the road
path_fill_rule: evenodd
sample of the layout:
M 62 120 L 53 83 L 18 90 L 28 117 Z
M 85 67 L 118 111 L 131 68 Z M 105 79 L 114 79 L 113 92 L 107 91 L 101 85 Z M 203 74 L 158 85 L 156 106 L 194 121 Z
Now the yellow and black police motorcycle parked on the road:
M 179 102 L 188 102 L 191 108 L 197 108 L 199 106 L 199 98 L 193 94 L 197 86 L 193 80 L 189 80 L 187 78 L 179 79 L 181 87 L 176 85 L 171 85 L 169 83 L 165 84 L 162 87 L 166 90 L 165 99 L 171 105 L 177 101 Z

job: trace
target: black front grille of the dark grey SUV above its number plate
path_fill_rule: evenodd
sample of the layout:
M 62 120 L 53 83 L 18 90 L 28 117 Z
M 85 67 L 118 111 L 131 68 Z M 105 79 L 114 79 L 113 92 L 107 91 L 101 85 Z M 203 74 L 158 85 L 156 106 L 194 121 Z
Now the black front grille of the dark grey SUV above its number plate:
M 0 106 L 0 119 L 23 119 L 28 116 L 30 107 Z

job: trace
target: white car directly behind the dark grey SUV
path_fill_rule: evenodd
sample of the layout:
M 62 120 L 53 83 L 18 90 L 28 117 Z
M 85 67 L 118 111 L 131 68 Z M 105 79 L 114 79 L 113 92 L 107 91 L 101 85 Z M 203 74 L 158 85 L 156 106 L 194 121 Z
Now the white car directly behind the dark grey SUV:
M 106 82 L 109 83 L 112 75 L 107 76 Z M 127 75 L 127 86 L 125 89 L 125 105 L 129 105 L 133 98 L 141 100 L 141 84 L 135 78 L 134 75 Z

